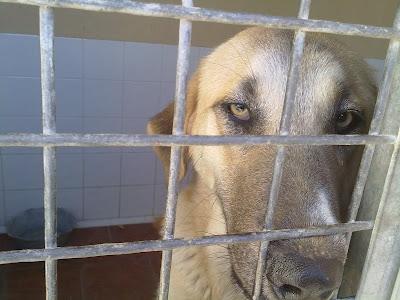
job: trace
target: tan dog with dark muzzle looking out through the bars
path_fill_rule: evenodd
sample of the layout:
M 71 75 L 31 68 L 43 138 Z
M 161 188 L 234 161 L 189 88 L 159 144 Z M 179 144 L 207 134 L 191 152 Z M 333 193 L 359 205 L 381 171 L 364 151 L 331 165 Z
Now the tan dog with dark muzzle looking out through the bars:
M 188 84 L 185 133 L 278 134 L 293 32 L 249 28 L 205 57 Z M 367 64 L 332 37 L 307 33 L 290 135 L 368 132 L 377 88 Z M 148 123 L 171 134 L 170 103 Z M 362 146 L 288 146 L 274 229 L 346 222 Z M 168 176 L 170 148 L 155 147 Z M 177 238 L 262 231 L 277 147 L 183 149 Z M 261 299 L 332 299 L 345 235 L 269 244 Z M 169 299 L 251 299 L 260 243 L 173 250 Z

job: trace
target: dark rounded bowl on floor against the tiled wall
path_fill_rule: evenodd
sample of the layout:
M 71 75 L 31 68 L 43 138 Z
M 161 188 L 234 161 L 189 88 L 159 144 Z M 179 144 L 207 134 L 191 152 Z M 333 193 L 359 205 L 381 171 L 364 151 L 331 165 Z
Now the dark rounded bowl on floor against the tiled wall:
M 74 216 L 63 208 L 57 209 L 57 244 L 65 245 L 74 229 Z M 31 208 L 12 218 L 6 225 L 7 234 L 15 239 L 18 249 L 44 248 L 44 210 Z

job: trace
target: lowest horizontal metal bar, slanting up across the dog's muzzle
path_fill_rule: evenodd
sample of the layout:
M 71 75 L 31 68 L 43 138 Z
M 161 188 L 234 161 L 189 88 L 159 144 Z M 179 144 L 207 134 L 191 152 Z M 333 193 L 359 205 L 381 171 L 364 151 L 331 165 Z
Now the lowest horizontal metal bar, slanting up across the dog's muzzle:
M 234 243 L 251 243 L 263 240 L 287 240 L 332 234 L 344 234 L 370 230 L 372 221 L 350 222 L 320 227 L 299 229 L 280 229 L 243 234 L 214 235 L 193 239 L 151 240 L 131 243 L 99 244 L 80 247 L 61 247 L 55 249 L 32 249 L 0 252 L 0 264 L 44 261 L 46 259 L 71 259 L 122 255 L 141 252 L 162 251 L 195 246 L 210 246 Z

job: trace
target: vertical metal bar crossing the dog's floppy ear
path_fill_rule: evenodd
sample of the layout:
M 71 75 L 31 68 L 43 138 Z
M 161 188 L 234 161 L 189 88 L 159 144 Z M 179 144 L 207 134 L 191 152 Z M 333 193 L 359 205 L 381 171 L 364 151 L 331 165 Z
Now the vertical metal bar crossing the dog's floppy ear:
M 182 0 L 182 6 L 193 6 L 192 0 Z M 184 134 L 186 83 L 189 73 L 189 54 L 192 37 L 192 23 L 181 19 L 179 23 L 179 45 L 176 73 L 174 123 L 172 134 Z M 165 213 L 164 239 L 174 238 L 175 216 L 178 200 L 179 169 L 181 161 L 181 147 L 171 147 L 170 170 L 168 178 L 167 208 Z M 160 271 L 159 300 L 168 299 L 171 274 L 172 250 L 164 250 Z

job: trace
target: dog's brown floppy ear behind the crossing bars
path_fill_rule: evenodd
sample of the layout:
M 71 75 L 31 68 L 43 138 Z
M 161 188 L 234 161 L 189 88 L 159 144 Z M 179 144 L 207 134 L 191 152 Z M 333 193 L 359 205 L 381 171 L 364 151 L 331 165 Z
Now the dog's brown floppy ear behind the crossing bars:
M 185 127 L 184 132 L 190 134 L 190 127 L 192 116 L 195 111 L 197 104 L 197 89 L 198 89 L 198 76 L 193 75 L 189 82 L 187 95 L 186 95 L 186 115 L 185 115 Z M 147 123 L 147 133 L 148 134 L 172 134 L 172 126 L 174 120 L 174 102 L 170 102 L 167 107 L 161 112 L 156 114 Z M 169 165 L 171 157 L 171 147 L 154 147 L 158 158 L 161 160 L 164 168 L 164 175 L 166 180 L 169 176 Z M 187 165 L 188 165 L 188 147 L 183 147 L 180 169 L 179 169 L 179 180 L 182 180 L 186 175 Z

